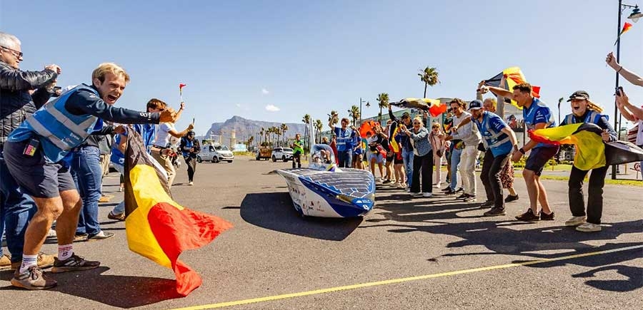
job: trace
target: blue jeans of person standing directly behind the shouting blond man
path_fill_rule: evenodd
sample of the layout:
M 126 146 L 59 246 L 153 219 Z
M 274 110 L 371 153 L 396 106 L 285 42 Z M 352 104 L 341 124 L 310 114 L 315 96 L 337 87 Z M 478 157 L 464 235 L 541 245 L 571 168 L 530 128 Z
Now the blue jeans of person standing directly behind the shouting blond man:
M 71 158 L 71 177 L 83 200 L 76 234 L 98 234 L 98 201 L 101 198 L 101 150 L 86 146 L 74 151 Z

